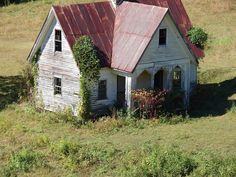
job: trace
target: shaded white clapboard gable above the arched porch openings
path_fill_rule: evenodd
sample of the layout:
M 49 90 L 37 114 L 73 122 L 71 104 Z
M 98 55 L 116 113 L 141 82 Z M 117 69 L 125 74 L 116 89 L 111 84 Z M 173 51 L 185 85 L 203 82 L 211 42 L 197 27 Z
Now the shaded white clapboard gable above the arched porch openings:
M 167 28 L 166 46 L 159 46 L 159 29 L 162 28 Z M 197 63 L 172 18 L 167 14 L 146 48 L 134 75 L 137 77 L 143 70 L 154 75 L 161 68 L 166 69 L 170 74 L 173 67 L 177 65 L 183 70 L 183 87 L 187 92 L 190 92 L 191 84 L 197 82 Z M 170 88 L 171 77 L 167 79 L 167 85 Z

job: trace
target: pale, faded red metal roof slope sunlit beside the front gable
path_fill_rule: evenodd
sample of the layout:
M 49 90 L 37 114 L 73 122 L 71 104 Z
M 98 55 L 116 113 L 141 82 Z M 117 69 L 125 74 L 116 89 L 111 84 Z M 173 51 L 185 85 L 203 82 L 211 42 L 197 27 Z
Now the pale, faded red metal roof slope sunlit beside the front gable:
M 128 2 L 117 8 L 112 68 L 133 72 L 167 11 L 167 8 Z

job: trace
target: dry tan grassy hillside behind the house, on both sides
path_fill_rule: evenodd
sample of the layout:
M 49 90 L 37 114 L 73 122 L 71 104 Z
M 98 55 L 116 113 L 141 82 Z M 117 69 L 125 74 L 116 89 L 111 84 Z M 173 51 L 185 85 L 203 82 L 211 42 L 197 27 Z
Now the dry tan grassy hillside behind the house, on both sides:
M 35 1 L 0 9 L 0 75 L 15 75 L 21 71 L 52 3 L 61 2 L 63 1 Z M 183 3 L 193 24 L 203 27 L 210 34 L 209 49 L 206 50 L 206 57 L 200 67 L 204 70 L 236 67 L 236 2 L 183 0 Z

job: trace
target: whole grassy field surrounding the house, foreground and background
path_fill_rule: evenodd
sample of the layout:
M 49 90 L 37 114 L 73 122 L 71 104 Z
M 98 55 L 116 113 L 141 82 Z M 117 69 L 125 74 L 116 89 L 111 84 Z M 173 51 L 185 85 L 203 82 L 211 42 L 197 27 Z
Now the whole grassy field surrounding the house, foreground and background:
M 236 158 L 236 1 L 183 0 L 193 24 L 210 35 L 190 120 L 163 124 L 107 119 L 81 128 L 65 123 L 66 115 L 38 113 L 27 103 L 14 103 L 19 99 L 19 73 L 43 20 L 52 3 L 64 2 L 86 1 L 42 0 L 0 8 L 0 176 L 9 176 L 9 171 L 31 177 L 144 176 L 133 168 L 145 171 L 146 163 L 153 164 L 149 160 L 157 145 L 190 154 L 186 160 L 170 150 L 165 157 L 184 159 L 182 165 L 189 168 L 198 162 L 197 167 L 192 164 L 192 176 L 235 176 L 231 161 L 222 159 Z M 198 153 L 216 154 L 227 169 L 212 165 L 220 164 L 214 155 L 203 160 Z M 199 166 L 202 162 L 209 167 Z

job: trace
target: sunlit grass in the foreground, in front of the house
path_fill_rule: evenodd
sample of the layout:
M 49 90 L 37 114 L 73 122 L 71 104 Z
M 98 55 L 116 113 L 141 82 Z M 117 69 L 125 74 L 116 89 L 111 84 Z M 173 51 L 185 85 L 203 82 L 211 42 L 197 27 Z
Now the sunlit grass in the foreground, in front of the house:
M 123 164 L 132 164 L 134 159 L 137 163 L 132 167 L 138 165 L 143 160 L 140 151 L 156 145 L 189 154 L 236 157 L 235 116 L 236 108 L 233 108 L 217 118 L 173 125 L 161 124 L 158 120 L 108 119 L 75 128 L 62 121 L 63 115 L 38 113 L 26 104 L 11 105 L 0 112 L 0 167 L 4 169 L 11 162 L 12 152 L 22 148 L 43 155 L 46 163 L 27 173 L 17 173 L 22 176 L 123 176 L 121 171 L 127 170 Z M 70 156 L 61 154 L 61 151 L 73 153 L 75 145 L 71 142 L 79 144 L 81 154 L 73 156 L 79 161 L 73 162 Z

